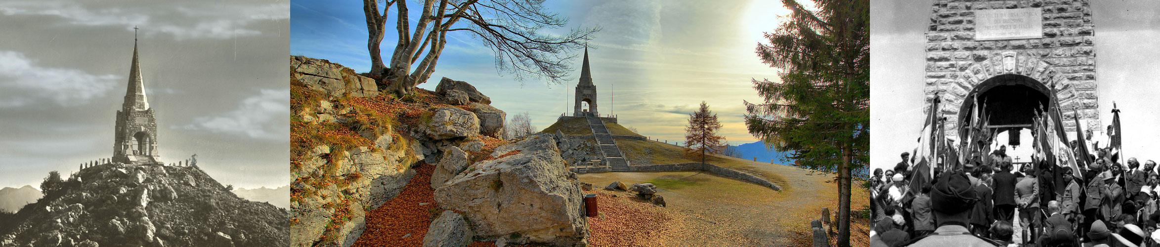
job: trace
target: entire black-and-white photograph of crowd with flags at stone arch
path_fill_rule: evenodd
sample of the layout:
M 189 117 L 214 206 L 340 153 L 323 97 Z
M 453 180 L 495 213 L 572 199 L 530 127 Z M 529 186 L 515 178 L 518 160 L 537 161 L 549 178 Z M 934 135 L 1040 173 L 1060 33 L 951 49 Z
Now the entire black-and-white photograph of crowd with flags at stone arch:
M 871 13 L 871 246 L 1160 244 L 1160 3 Z

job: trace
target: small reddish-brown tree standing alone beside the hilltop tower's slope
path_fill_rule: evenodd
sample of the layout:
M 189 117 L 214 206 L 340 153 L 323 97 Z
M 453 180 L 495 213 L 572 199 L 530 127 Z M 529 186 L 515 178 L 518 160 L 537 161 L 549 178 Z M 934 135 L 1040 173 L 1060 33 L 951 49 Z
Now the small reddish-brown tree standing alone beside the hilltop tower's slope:
M 705 162 L 709 153 L 722 153 L 725 151 L 725 137 L 717 136 L 717 130 L 722 129 L 722 123 L 717 122 L 717 114 L 709 110 L 709 103 L 701 102 L 701 108 L 689 115 L 689 126 L 684 128 L 684 155 L 701 158 Z

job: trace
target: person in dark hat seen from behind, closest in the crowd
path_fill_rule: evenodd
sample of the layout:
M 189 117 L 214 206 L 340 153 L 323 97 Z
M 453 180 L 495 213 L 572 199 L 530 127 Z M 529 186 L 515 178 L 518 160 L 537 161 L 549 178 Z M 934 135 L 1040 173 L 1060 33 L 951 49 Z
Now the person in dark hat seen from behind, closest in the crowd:
M 965 174 L 945 173 L 938 176 L 930 190 L 930 203 L 938 228 L 926 237 L 912 239 L 904 246 L 996 246 L 996 242 L 971 234 L 966 228 L 967 218 L 977 201 L 974 188 Z

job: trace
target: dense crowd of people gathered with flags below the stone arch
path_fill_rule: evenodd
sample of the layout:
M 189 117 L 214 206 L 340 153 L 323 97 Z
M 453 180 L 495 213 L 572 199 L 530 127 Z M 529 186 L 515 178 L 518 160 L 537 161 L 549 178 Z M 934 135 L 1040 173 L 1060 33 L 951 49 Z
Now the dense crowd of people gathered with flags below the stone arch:
M 871 246 L 1160 246 L 1154 161 L 1101 148 L 1075 153 L 1086 167 L 1014 164 L 1006 150 L 931 168 L 902 153 L 875 169 Z

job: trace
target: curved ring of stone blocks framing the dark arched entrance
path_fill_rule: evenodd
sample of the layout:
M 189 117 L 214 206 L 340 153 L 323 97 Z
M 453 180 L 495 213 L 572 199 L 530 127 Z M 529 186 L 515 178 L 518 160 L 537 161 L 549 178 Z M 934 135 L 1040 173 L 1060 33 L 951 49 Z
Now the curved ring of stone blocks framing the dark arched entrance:
M 959 131 L 956 130 L 960 130 L 963 123 L 970 119 L 967 116 L 977 95 L 1008 90 L 1037 92 L 1046 97 L 1047 103 L 1058 100 L 1060 109 L 1064 109 L 1065 119 L 1070 119 L 1073 116 L 1070 109 L 1078 103 L 1078 96 L 1075 87 L 1072 87 L 1068 80 L 1056 66 L 1041 60 L 1037 55 L 1025 51 L 998 52 L 985 59 L 976 59 L 955 73 L 928 74 L 927 102 L 930 102 L 934 94 L 940 95 L 942 103 L 938 106 L 938 112 L 947 117 L 944 126 L 948 130 L 947 137 L 959 139 Z M 1085 104 L 1083 108 L 1095 108 L 1094 102 L 1093 106 Z M 1099 119 L 1089 121 L 1095 121 L 1094 125 L 1099 125 Z M 1065 121 L 1064 125 L 1066 131 L 1075 129 L 1073 122 Z

